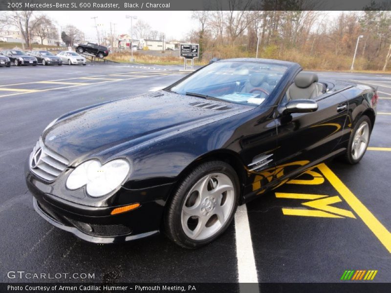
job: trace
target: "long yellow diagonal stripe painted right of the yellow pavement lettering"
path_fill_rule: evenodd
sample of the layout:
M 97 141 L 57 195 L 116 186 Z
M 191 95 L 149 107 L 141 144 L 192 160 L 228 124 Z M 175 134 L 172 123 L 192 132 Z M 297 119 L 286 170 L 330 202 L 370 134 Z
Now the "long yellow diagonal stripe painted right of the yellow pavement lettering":
M 335 175 L 326 164 L 318 165 L 318 168 L 330 181 L 332 186 L 346 200 L 348 205 L 363 220 L 368 228 L 375 234 L 384 247 L 391 253 L 391 233 L 379 222 L 378 219 L 364 206 L 361 201 L 346 187 L 346 185 Z

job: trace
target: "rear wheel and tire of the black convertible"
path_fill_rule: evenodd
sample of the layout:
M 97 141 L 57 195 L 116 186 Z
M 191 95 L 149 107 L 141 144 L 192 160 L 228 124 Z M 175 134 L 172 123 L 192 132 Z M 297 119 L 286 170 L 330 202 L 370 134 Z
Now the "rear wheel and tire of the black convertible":
M 372 123 L 367 115 L 363 115 L 354 126 L 349 142 L 348 149 L 344 156 L 344 161 L 348 164 L 354 165 L 360 162 L 367 150 L 370 134 L 372 130 Z

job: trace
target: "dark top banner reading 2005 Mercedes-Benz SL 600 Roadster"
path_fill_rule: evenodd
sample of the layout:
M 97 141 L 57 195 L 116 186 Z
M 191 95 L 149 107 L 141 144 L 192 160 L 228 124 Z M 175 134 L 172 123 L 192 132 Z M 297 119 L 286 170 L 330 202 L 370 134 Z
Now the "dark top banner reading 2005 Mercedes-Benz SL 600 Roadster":
M 0 10 L 391 10 L 391 0 L 0 0 Z

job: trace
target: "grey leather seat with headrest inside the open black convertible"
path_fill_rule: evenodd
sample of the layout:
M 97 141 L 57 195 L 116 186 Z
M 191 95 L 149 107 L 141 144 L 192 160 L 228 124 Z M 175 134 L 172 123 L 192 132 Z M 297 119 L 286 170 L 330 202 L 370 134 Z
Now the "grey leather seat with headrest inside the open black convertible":
M 318 75 L 300 72 L 286 92 L 288 101 L 297 99 L 315 99 L 326 92 L 326 86 L 318 83 Z

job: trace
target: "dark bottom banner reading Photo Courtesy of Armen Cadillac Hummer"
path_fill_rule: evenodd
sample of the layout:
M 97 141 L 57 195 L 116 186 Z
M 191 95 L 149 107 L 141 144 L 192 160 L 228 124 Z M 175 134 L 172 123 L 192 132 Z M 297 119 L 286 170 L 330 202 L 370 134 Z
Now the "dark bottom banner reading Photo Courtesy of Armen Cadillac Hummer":
M 391 283 L 0 283 L 0 293 L 389 293 Z

